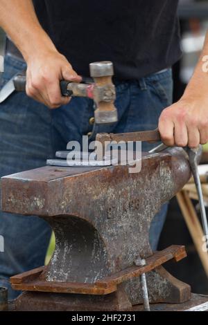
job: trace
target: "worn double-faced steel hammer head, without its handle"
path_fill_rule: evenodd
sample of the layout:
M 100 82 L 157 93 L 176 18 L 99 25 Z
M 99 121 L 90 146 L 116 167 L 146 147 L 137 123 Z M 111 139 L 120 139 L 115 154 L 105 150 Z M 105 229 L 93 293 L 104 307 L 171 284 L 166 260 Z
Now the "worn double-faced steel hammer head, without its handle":
M 112 83 L 114 75 L 113 64 L 110 61 L 89 64 L 90 76 L 94 79 L 94 113 L 96 124 L 109 124 L 118 121 L 118 114 L 114 106 L 116 99 L 115 86 Z

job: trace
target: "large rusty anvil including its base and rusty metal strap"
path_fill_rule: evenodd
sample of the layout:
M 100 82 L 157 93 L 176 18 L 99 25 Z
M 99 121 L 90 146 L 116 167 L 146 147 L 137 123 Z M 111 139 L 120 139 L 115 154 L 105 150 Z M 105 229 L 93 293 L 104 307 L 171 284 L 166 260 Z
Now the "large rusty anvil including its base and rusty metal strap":
M 142 303 L 141 272 L 148 272 L 151 303 L 189 300 L 190 287 L 162 267 L 182 259 L 184 248 L 153 254 L 148 233 L 190 176 L 184 151 L 168 149 L 144 154 L 138 174 L 121 165 L 48 166 L 3 177 L 2 210 L 35 214 L 55 232 L 49 265 L 11 278 L 13 288 L 24 290 L 16 309 L 131 310 Z M 135 266 L 138 257 L 146 259 L 143 268 Z

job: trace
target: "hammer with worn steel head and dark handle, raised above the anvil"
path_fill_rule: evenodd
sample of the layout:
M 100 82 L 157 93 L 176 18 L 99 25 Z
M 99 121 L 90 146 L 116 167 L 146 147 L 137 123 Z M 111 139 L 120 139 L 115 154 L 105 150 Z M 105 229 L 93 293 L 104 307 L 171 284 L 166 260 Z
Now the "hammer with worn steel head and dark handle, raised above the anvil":
M 88 97 L 94 100 L 95 122 L 96 124 L 109 124 L 117 122 L 118 115 L 114 100 L 116 99 L 115 86 L 112 83 L 114 75 L 113 64 L 110 61 L 94 62 L 89 64 L 90 76 L 93 78 L 83 78 L 82 83 L 60 82 L 60 89 L 66 97 Z M 18 73 L 0 91 L 0 102 L 13 91 L 26 91 L 26 75 Z

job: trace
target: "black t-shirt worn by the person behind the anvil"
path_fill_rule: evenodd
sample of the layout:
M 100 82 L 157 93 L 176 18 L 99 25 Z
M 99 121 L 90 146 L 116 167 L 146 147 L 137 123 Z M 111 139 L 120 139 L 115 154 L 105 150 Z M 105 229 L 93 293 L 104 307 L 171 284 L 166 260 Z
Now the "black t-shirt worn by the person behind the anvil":
M 110 60 L 115 77 L 132 80 L 179 59 L 178 0 L 33 0 L 37 17 L 80 75 Z

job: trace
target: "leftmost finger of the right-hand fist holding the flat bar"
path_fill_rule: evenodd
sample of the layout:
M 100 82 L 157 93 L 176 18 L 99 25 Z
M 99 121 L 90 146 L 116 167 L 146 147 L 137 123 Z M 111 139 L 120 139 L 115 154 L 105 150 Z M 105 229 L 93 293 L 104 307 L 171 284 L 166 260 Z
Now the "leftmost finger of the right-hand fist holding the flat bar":
M 168 118 L 162 114 L 159 118 L 158 128 L 162 142 L 168 147 L 173 147 L 175 145 L 173 121 L 168 120 Z

